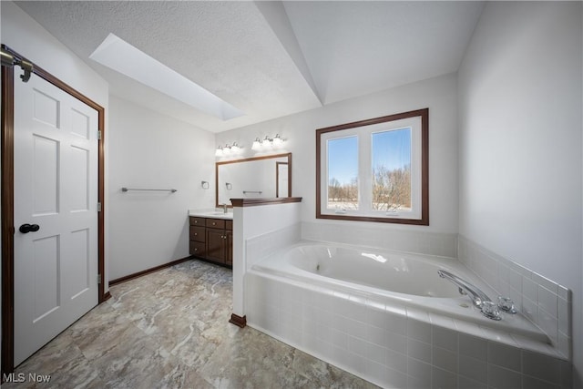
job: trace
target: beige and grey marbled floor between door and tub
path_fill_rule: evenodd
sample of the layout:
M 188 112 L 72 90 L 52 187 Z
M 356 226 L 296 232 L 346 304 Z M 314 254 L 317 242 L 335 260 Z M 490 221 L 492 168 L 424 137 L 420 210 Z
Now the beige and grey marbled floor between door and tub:
M 373 388 L 251 327 L 228 322 L 231 271 L 186 261 L 110 288 L 15 370 L 58 388 Z

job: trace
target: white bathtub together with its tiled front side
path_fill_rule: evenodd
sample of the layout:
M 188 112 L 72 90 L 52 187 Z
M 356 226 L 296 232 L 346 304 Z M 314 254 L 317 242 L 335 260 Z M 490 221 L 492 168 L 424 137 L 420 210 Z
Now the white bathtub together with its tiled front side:
M 439 277 L 450 271 L 497 299 L 455 259 L 302 241 L 253 262 L 248 324 L 374 384 L 569 386 L 570 363 L 536 325 L 520 313 L 490 320 Z

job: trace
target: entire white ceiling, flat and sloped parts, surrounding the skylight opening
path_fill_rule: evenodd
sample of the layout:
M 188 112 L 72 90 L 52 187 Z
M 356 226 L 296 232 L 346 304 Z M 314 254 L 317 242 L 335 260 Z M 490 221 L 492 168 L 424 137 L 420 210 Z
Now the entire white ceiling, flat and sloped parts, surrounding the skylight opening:
M 17 2 L 111 94 L 220 132 L 455 72 L 482 2 Z M 88 57 L 109 34 L 245 116 L 203 114 Z M 34 58 L 31 58 L 34 60 Z

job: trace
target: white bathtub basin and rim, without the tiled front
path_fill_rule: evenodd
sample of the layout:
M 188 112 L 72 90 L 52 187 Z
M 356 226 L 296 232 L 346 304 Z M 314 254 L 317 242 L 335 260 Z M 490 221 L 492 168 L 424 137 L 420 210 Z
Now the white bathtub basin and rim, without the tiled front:
M 501 312 L 502 320 L 486 318 L 457 286 L 437 274 L 443 269 L 486 292 L 497 294 L 455 259 L 398 251 L 301 242 L 253 266 L 253 271 L 335 292 L 358 295 L 395 308 L 435 312 L 457 322 L 475 323 L 548 343 L 547 335 L 519 312 Z

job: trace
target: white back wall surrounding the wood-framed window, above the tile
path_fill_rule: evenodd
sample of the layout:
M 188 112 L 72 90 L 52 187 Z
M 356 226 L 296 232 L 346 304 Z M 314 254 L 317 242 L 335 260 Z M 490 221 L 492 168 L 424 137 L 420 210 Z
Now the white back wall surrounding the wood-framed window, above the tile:
M 373 226 L 386 230 L 408 229 L 457 232 L 457 97 L 456 77 L 435 77 L 404 87 L 356 97 L 326 107 L 273 119 L 245 128 L 217 134 L 216 145 L 237 141 L 244 156 L 254 155 L 251 143 L 265 135 L 286 138 L 285 150 L 292 152 L 292 195 L 302 197 L 302 220 L 315 220 L 316 128 L 429 107 L 429 197 L 430 226 Z M 336 222 L 338 224 L 339 222 Z M 343 222 L 340 222 L 341 224 Z M 344 223 L 345 224 L 345 223 Z M 354 225 L 354 223 L 349 223 Z M 369 223 L 359 223 L 366 225 Z

